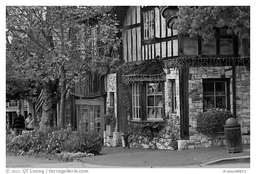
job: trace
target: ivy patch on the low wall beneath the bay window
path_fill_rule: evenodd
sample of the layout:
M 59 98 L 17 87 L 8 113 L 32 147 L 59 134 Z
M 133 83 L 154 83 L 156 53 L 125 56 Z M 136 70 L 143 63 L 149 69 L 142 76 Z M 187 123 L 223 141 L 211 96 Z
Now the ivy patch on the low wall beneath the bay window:
M 164 122 L 130 123 L 128 143 L 132 147 L 178 148 L 180 119 L 176 114 L 164 116 Z

